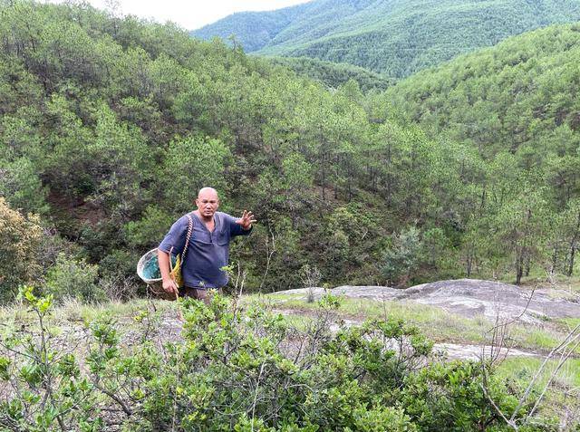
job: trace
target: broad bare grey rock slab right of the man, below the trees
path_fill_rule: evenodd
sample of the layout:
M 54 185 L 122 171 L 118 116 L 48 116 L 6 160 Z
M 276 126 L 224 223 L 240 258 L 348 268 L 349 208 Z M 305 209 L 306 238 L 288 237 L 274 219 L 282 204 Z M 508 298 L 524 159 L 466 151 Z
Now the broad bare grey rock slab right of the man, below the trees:
M 297 293 L 304 294 L 305 299 L 310 290 L 313 290 L 314 298 L 320 298 L 324 294 L 323 288 L 303 288 L 273 295 Z M 580 302 L 554 298 L 546 290 L 532 293 L 531 290 L 516 285 L 476 279 L 423 283 L 407 289 L 344 285 L 333 288 L 331 293 L 378 301 L 428 304 L 469 318 L 483 315 L 493 320 L 499 316 L 503 319 L 517 318 L 521 322 L 537 323 L 546 318 L 580 317 Z

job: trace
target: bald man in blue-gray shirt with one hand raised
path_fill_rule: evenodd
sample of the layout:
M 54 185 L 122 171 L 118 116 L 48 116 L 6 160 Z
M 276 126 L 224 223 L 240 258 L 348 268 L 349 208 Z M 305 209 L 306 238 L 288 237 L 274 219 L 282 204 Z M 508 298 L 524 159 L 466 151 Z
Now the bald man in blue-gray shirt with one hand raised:
M 227 273 L 222 267 L 229 259 L 229 242 L 236 235 L 248 235 L 256 222 L 252 212 L 244 210 L 239 219 L 218 212 L 219 197 L 216 189 L 204 187 L 196 199 L 198 209 L 189 213 L 193 231 L 188 251 L 181 267 L 185 287 L 179 292 L 170 276 L 169 254 L 180 255 L 186 243 L 189 217 L 181 216 L 171 226 L 158 248 L 163 289 L 167 293 L 208 300 L 209 289 L 220 289 L 227 283 Z

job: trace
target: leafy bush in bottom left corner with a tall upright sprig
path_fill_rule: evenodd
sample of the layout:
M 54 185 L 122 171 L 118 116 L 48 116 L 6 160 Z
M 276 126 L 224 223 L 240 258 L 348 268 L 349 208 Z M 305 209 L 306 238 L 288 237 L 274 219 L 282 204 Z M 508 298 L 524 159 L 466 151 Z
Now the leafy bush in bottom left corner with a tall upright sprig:
M 24 330 L 0 340 L 0 380 L 9 389 L 0 400 L 0 429 L 19 431 L 101 430 L 93 386 L 72 352 L 60 350 L 47 326 L 52 296 L 37 298 L 31 286 L 21 296 L 34 311 L 37 332 Z

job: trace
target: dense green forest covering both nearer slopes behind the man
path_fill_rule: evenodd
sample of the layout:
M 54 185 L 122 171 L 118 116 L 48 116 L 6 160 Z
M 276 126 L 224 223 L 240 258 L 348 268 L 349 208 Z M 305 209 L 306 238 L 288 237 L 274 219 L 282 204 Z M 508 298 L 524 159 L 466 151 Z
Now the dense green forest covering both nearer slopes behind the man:
M 461 89 L 474 104 L 493 98 L 506 124 L 503 112 L 524 107 L 510 108 L 514 98 L 542 101 L 546 109 L 518 117 L 529 124 L 509 120 L 520 140 L 520 128 L 541 128 L 545 150 L 534 158 L 529 146 L 501 139 L 507 130 L 485 146 L 459 135 L 455 119 L 479 112 L 470 105 L 449 106 L 440 133 L 425 133 L 410 120 L 422 120 L 412 115 L 411 81 L 386 93 L 364 94 L 354 81 L 328 91 L 170 24 L 88 5 L 0 7 L 5 299 L 26 281 L 89 300 L 129 290 L 140 255 L 208 185 L 221 209 L 252 209 L 259 220 L 231 254 L 250 291 L 300 286 L 313 267 L 320 283 L 395 286 L 575 271 L 578 109 L 565 99 L 578 85 L 575 25 L 479 54 L 488 61 L 474 80 L 498 79 L 494 67 L 517 75 L 506 94 L 476 85 L 470 72 L 456 87 L 459 100 Z M 522 67 L 509 43 L 546 59 Z M 540 72 L 549 89 L 566 90 L 532 84 Z M 420 75 L 433 84 L 419 99 L 452 87 L 436 84 L 437 73 Z M 493 119 L 485 111 L 470 124 Z

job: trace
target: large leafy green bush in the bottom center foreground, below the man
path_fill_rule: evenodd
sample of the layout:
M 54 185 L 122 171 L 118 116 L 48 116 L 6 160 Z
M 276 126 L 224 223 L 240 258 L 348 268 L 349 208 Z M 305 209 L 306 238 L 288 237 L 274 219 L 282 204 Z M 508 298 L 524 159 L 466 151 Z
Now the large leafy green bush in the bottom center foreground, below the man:
M 170 345 L 162 355 L 145 343 L 128 356 L 111 340 L 94 364 L 101 385 L 131 407 L 128 430 L 414 431 L 501 424 L 478 387 L 475 365 L 426 367 L 431 343 L 397 320 L 330 331 L 338 305 L 324 297 L 314 321 L 299 331 L 257 306 L 241 310 L 220 296 L 208 305 L 186 300 L 187 343 Z M 445 391 L 433 403 L 433 395 L 417 388 L 430 389 L 438 380 Z

